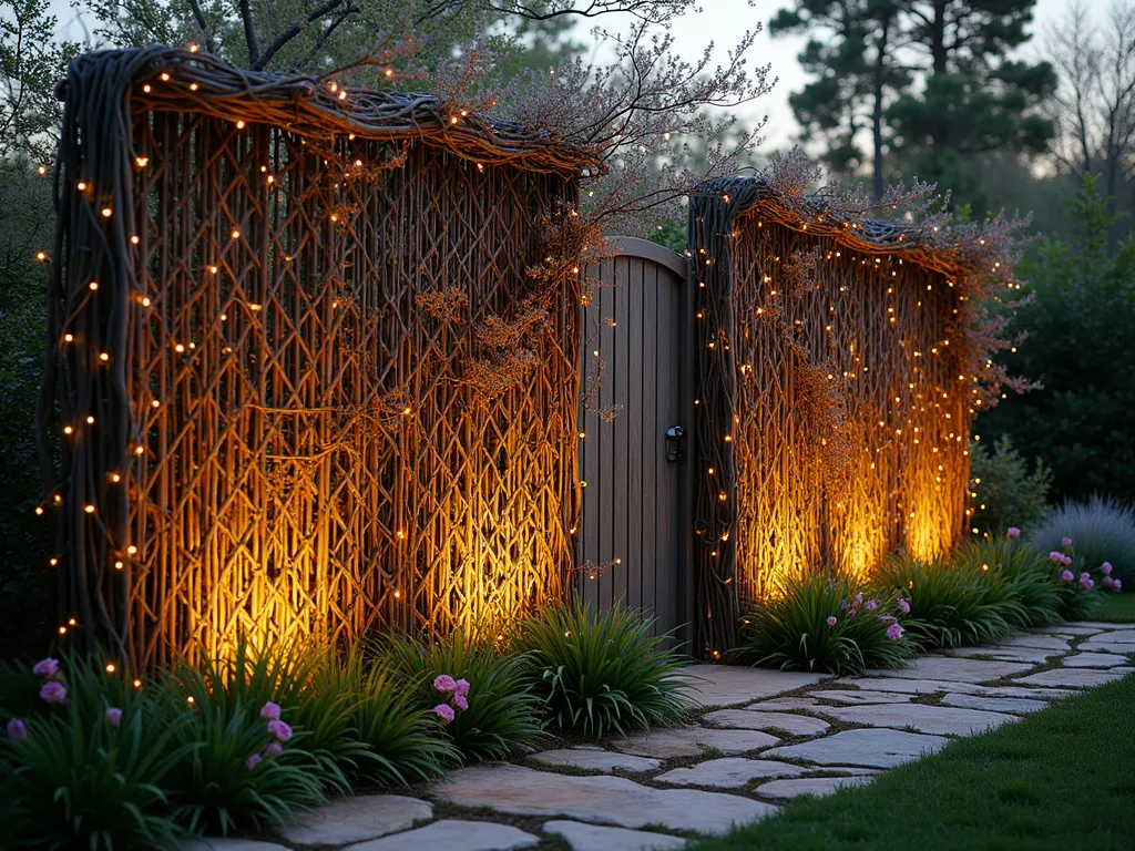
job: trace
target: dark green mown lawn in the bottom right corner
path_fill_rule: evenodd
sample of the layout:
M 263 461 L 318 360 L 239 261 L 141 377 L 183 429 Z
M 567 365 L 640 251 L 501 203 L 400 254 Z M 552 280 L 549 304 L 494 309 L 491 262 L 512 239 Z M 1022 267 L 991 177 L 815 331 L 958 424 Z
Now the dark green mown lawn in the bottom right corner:
M 1127 676 L 692 849 L 1118 851 L 1133 843 L 1135 676 Z

